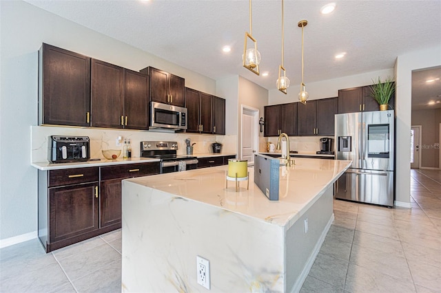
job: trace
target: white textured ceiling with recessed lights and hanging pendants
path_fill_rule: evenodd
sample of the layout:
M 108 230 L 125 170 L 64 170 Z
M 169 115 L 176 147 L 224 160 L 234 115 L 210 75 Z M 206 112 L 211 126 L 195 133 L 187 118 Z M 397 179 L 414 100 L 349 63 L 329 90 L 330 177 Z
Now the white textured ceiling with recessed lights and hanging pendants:
M 244 35 L 249 31 L 247 0 L 28 2 L 210 78 L 237 74 L 266 89 L 276 88 L 281 1 L 252 1 L 252 34 L 262 56 L 260 72 L 269 72 L 267 77 L 242 67 Z M 284 65 L 291 85 L 301 80 L 297 23 L 302 19 L 308 21 L 306 84 L 389 69 L 397 56 L 441 43 L 440 0 L 334 2 L 336 10 L 322 15 L 320 7 L 329 1 L 285 0 Z M 223 54 L 224 45 L 231 45 L 232 52 Z M 340 52 L 347 54 L 336 60 Z

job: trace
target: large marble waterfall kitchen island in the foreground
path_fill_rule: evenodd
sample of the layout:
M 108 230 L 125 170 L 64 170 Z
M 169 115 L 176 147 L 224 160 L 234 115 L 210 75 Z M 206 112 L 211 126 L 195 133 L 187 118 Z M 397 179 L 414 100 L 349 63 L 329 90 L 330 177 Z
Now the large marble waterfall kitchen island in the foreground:
M 280 199 L 254 184 L 225 188 L 227 166 L 123 180 L 123 292 L 296 292 L 334 219 L 333 184 L 351 164 L 296 158 Z

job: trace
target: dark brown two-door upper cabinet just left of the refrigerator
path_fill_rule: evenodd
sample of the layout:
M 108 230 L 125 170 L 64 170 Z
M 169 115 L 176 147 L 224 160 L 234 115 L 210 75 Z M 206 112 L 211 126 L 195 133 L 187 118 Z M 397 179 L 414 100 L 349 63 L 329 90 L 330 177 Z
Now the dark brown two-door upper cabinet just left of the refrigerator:
M 309 100 L 297 108 L 298 135 L 334 135 L 338 98 Z

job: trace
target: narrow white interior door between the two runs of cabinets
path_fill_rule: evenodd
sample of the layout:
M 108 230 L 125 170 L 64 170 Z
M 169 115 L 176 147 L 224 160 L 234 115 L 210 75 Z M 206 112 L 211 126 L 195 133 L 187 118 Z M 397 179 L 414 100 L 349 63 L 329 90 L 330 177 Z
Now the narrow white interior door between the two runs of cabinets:
M 258 116 L 258 109 L 242 106 L 240 160 L 248 160 L 248 164 L 254 164 L 254 153 L 258 149 Z

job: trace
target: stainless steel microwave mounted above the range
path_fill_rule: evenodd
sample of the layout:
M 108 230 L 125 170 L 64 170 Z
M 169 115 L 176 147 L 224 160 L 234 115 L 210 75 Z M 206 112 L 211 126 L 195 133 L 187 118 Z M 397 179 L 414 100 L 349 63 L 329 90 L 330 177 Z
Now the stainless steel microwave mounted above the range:
M 151 102 L 150 128 L 152 129 L 187 129 L 187 108 Z

